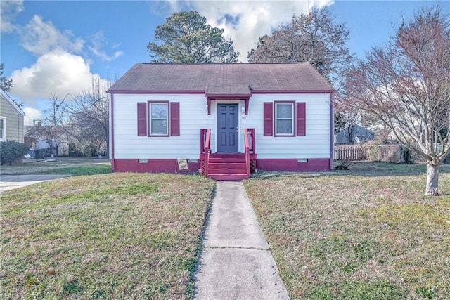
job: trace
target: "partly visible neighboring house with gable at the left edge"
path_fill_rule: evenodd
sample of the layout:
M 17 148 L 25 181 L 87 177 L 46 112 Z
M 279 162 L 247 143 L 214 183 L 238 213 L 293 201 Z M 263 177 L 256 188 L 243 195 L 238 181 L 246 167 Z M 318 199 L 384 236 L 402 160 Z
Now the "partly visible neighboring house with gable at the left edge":
M 0 89 L 0 141 L 23 143 L 23 118 L 25 112 Z

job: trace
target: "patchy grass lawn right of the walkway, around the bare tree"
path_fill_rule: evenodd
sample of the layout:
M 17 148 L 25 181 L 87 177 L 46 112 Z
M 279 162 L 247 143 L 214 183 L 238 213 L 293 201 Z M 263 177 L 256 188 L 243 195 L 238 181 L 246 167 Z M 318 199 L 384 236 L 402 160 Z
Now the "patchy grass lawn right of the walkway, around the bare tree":
M 250 201 L 292 299 L 450 299 L 450 174 L 423 165 L 259 174 Z

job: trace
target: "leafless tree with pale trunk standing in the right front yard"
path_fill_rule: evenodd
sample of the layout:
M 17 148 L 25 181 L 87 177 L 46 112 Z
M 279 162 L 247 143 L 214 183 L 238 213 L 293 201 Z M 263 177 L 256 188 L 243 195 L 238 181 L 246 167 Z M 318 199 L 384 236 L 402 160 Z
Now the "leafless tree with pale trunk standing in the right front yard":
M 439 195 L 439 165 L 450 152 L 450 131 L 442 134 L 450 125 L 449 49 L 449 15 L 439 6 L 422 8 L 347 76 L 348 104 L 377 117 L 427 160 L 425 195 Z

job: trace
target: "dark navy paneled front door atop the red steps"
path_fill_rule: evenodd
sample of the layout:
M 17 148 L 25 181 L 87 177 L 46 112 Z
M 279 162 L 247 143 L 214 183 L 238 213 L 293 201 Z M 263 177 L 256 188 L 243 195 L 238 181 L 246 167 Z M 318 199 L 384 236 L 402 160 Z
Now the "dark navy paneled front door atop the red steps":
M 238 152 L 237 104 L 217 104 L 217 152 Z

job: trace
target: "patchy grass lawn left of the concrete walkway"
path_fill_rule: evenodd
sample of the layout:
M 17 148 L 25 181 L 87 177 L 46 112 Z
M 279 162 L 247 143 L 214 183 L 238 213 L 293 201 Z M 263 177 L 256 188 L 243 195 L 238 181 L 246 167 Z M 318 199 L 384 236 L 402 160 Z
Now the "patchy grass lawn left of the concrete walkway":
M 0 298 L 189 298 L 213 190 L 116 173 L 1 193 Z

